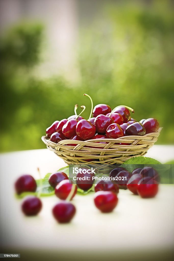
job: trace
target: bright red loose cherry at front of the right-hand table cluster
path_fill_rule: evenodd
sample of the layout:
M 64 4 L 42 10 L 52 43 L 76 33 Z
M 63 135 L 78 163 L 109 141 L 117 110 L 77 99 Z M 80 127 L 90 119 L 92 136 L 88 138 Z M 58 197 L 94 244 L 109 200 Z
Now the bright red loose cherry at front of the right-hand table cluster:
M 149 183 L 149 182 L 143 183 L 140 180 L 139 183 L 138 183 L 138 186 L 137 186 L 137 193 L 142 198 L 153 198 L 158 193 L 158 184 L 152 184 L 152 183 Z

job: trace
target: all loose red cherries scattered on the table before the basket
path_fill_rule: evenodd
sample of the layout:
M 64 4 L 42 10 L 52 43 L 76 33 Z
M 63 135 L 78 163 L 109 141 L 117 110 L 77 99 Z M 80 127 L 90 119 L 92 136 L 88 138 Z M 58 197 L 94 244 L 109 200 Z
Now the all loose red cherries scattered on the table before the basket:
M 86 177 L 87 181 L 78 180 L 76 184 L 71 183 L 64 172 L 52 173 L 49 177 L 50 185 L 55 189 L 55 195 L 61 199 L 53 209 L 52 213 L 59 223 L 69 222 L 75 215 L 76 208 L 69 201 L 76 193 L 77 187 L 87 191 L 93 186 L 92 177 L 94 174 L 79 172 L 77 177 Z M 136 168 L 132 173 L 124 168 L 117 167 L 111 170 L 109 177 L 126 177 L 124 180 L 99 181 L 95 184 L 94 204 L 101 212 L 111 212 L 118 203 L 117 194 L 119 188 L 129 189 L 134 194 L 139 194 L 142 198 L 154 197 L 158 192 L 160 181 L 157 171 L 152 167 Z M 15 182 L 17 194 L 22 192 L 35 192 L 37 184 L 31 175 L 22 175 Z M 29 196 L 23 200 L 22 211 L 26 216 L 37 215 L 42 208 L 42 202 L 36 196 Z

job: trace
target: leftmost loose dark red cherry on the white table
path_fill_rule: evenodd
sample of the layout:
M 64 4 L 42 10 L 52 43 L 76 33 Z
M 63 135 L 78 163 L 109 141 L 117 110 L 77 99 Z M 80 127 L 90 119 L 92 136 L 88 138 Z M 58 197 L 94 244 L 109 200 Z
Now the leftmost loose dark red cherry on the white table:
M 31 175 L 22 175 L 15 182 L 15 190 L 17 194 L 22 192 L 35 192 L 37 184 L 35 179 Z

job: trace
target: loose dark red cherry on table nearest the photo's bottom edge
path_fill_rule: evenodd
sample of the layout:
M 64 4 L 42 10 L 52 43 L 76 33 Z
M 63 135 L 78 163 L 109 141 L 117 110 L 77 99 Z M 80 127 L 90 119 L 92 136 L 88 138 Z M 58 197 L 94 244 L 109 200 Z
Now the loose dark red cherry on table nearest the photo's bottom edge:
M 53 207 L 52 213 L 59 223 L 68 223 L 74 217 L 76 212 L 75 206 L 65 200 L 62 200 Z

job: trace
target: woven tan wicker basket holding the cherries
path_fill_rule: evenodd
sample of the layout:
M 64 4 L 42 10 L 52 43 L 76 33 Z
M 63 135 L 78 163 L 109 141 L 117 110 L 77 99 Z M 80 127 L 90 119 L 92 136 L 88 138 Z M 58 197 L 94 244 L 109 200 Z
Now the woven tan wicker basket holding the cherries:
M 124 136 L 118 139 L 61 140 L 54 143 L 47 136 L 43 136 L 42 141 L 49 150 L 55 152 L 68 165 L 78 163 L 84 165 L 87 163 L 122 164 L 127 159 L 144 156 L 157 141 L 161 129 L 144 136 Z M 129 145 L 119 145 L 119 143 Z M 75 144 L 76 146 L 74 146 Z

